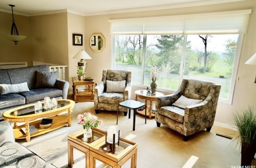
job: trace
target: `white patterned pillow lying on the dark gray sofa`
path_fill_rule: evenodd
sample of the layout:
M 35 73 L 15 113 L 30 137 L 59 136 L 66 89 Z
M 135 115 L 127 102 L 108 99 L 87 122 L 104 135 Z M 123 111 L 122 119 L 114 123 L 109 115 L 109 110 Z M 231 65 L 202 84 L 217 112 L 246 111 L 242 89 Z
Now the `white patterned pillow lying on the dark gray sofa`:
M 0 84 L 0 95 L 8 93 L 20 93 L 23 91 L 29 91 L 27 82 L 18 84 Z

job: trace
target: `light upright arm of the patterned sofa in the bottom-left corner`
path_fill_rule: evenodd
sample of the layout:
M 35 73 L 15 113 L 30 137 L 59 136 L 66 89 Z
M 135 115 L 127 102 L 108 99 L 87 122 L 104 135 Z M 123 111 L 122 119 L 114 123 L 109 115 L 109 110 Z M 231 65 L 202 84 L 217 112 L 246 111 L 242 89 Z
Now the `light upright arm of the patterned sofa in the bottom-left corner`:
M 8 121 L 0 122 L 0 147 L 15 142 L 13 128 Z

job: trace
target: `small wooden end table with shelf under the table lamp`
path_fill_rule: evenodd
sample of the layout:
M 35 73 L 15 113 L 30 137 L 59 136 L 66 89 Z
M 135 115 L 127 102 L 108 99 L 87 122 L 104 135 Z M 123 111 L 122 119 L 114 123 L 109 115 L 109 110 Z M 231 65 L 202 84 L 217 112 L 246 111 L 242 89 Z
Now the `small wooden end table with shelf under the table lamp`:
M 86 77 L 89 78 L 89 77 Z M 94 101 L 94 85 L 95 81 L 83 81 L 78 80 L 78 77 L 72 77 L 73 82 L 73 99 L 77 102 L 87 102 Z M 89 89 L 85 89 L 84 91 L 77 91 L 77 85 L 88 85 Z

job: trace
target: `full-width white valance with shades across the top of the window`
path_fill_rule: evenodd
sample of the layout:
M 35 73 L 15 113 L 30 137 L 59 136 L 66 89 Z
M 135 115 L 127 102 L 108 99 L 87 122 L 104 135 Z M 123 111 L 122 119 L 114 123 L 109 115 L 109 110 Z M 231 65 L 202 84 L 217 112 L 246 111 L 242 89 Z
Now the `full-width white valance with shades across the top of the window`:
M 251 10 L 114 19 L 112 34 L 245 34 Z

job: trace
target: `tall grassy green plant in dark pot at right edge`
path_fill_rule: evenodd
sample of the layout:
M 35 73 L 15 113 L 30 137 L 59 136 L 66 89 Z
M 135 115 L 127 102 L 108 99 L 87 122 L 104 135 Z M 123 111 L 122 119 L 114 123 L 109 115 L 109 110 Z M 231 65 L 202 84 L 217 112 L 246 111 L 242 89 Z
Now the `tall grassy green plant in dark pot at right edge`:
M 241 141 L 241 166 L 251 166 L 251 161 L 256 152 L 256 113 L 253 107 L 236 111 L 233 114 Z

